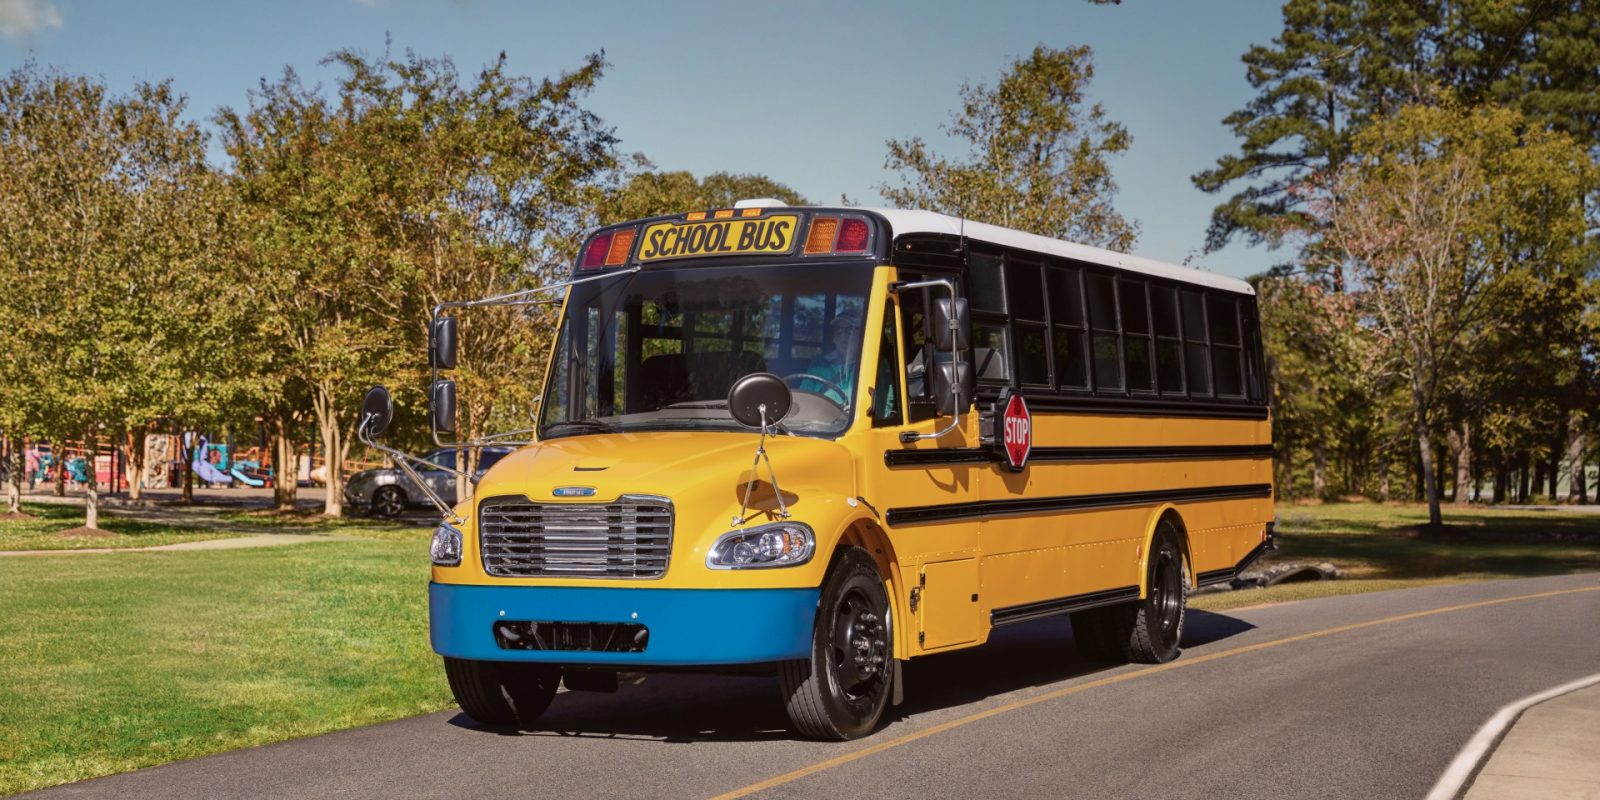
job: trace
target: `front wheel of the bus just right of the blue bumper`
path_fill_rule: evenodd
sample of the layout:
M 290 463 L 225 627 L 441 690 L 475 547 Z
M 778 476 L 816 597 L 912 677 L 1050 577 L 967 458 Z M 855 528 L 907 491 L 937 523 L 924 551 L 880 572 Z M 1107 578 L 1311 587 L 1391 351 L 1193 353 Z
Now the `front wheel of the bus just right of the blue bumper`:
M 778 682 L 789 722 L 813 739 L 872 733 L 893 691 L 894 630 L 878 566 L 861 547 L 840 554 L 818 600 L 811 658 L 786 661 Z

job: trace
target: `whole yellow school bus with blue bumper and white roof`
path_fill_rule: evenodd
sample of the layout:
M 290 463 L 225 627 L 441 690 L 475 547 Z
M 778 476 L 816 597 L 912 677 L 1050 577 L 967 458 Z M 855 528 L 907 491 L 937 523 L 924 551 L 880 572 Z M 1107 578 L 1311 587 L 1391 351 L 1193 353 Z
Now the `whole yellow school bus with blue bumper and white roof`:
M 904 661 L 1000 626 L 1173 659 L 1189 590 L 1272 546 L 1245 282 L 749 202 L 600 229 L 563 286 L 536 432 L 434 534 L 432 645 L 482 723 L 736 667 L 797 734 L 858 738 Z M 454 384 L 432 397 L 448 432 Z

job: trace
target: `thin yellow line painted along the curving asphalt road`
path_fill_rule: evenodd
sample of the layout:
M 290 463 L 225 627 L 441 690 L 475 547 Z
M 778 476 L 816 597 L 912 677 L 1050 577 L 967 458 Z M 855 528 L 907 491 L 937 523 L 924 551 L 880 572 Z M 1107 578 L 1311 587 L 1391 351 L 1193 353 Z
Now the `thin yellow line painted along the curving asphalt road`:
M 1157 672 L 1166 672 L 1166 670 L 1171 670 L 1171 669 L 1194 667 L 1194 666 L 1208 664 L 1211 661 L 1222 659 L 1222 658 L 1242 656 L 1245 653 L 1256 653 L 1256 651 L 1267 650 L 1267 648 L 1275 648 L 1275 646 L 1282 646 L 1282 645 L 1291 645 L 1294 642 L 1306 642 L 1307 638 L 1328 637 L 1328 635 L 1333 635 L 1333 634 L 1346 634 L 1346 632 L 1350 632 L 1350 630 L 1360 630 L 1363 627 L 1387 626 L 1387 624 L 1392 624 L 1392 622 L 1405 622 L 1406 619 L 1419 619 L 1419 618 L 1434 616 L 1434 614 L 1446 614 L 1446 613 L 1451 613 L 1451 611 L 1466 611 L 1469 608 L 1483 608 L 1483 606 L 1491 606 L 1491 605 L 1515 603 L 1515 602 L 1520 602 L 1520 600 L 1538 600 L 1541 597 L 1570 595 L 1570 594 L 1578 594 L 1578 592 L 1600 592 L 1600 586 L 1589 586 L 1589 587 L 1582 587 L 1582 589 L 1562 589 L 1562 590 L 1555 590 L 1555 592 L 1539 592 L 1539 594 L 1531 594 L 1531 595 L 1502 597 L 1502 598 L 1498 598 L 1498 600 L 1480 600 L 1477 603 L 1462 603 L 1462 605 L 1453 605 L 1453 606 L 1445 606 L 1445 608 L 1432 608 L 1429 611 L 1413 611 L 1410 614 L 1386 616 L 1382 619 L 1371 619 L 1371 621 L 1366 621 L 1366 622 L 1352 622 L 1349 626 L 1338 626 L 1338 627 L 1330 627 L 1330 629 L 1323 629 L 1323 630 L 1312 630 L 1310 634 L 1299 634 L 1299 635 L 1293 635 L 1293 637 L 1286 637 L 1286 638 L 1275 638 L 1272 642 L 1262 642 L 1259 645 L 1245 645 L 1245 646 L 1234 648 L 1234 650 L 1222 650 L 1219 653 L 1208 653 L 1205 656 L 1184 658 L 1181 661 L 1168 661 L 1166 664 L 1158 664 L 1158 666 L 1146 667 L 1146 669 L 1134 670 L 1134 672 L 1125 672 L 1122 675 L 1112 675 L 1109 678 L 1091 680 L 1088 683 L 1078 683 L 1078 685 L 1074 685 L 1074 686 L 1066 686 L 1066 688 L 1059 688 L 1059 690 L 1054 690 L 1054 691 L 1046 691 L 1045 694 L 1038 694 L 1038 696 L 1027 698 L 1027 699 L 1019 699 L 1019 701 L 1014 701 L 1014 702 L 1008 702 L 1005 706 L 997 706 L 997 707 L 989 709 L 989 710 L 981 710 L 981 712 L 976 712 L 976 714 L 968 714 L 966 717 L 960 717 L 960 718 L 955 718 L 955 720 L 941 722 L 939 725 L 933 725 L 930 728 L 923 728 L 923 730 L 915 731 L 915 733 L 907 733 L 906 736 L 899 736 L 899 738 L 894 738 L 894 739 L 890 739 L 890 741 L 885 741 L 885 742 L 872 744 L 872 746 L 862 747 L 859 750 L 851 750 L 851 752 L 848 752 L 845 755 L 837 755 L 834 758 L 827 758 L 824 762 L 818 762 L 818 763 L 813 763 L 810 766 L 802 766 L 802 768 L 798 768 L 798 770 L 795 770 L 792 773 L 784 773 L 784 774 L 779 774 L 776 778 L 768 778 L 766 781 L 746 786 L 742 789 L 734 789 L 731 792 L 720 794 L 720 795 L 714 797 L 712 800 L 733 800 L 733 798 L 738 798 L 738 797 L 749 797 L 749 795 L 754 795 L 757 792 L 765 792 L 765 790 L 768 790 L 768 789 L 771 789 L 774 786 L 782 786 L 782 784 L 787 784 L 787 782 L 792 782 L 792 781 L 798 781 L 798 779 L 802 779 L 805 776 L 816 774 L 816 773 L 824 771 L 824 770 L 832 770 L 835 766 L 843 766 L 843 765 L 846 765 L 850 762 L 858 762 L 858 760 L 866 758 L 869 755 L 877 755 L 877 754 L 880 754 L 883 750 L 890 750 L 890 749 L 899 747 L 902 744 L 910 744 L 910 742 L 918 741 L 918 739 L 926 739 L 928 736 L 934 736 L 934 734 L 939 734 L 939 733 L 944 733 L 944 731 L 949 731 L 949 730 L 962 728 L 965 725 L 971 725 L 971 723 L 979 722 L 979 720 L 987 720 L 989 717 L 998 717 L 1002 714 L 1006 714 L 1006 712 L 1011 712 L 1011 710 L 1016 710 L 1016 709 L 1026 709 L 1029 706 L 1035 706 L 1035 704 L 1040 704 L 1040 702 L 1053 701 L 1053 699 L 1058 699 L 1058 698 L 1066 698 L 1067 694 L 1077 694 L 1077 693 L 1086 691 L 1086 690 L 1094 690 L 1094 688 L 1101 688 L 1101 686 L 1110 686 L 1112 683 L 1122 683 L 1125 680 L 1133 680 L 1133 678 L 1139 678 L 1139 677 L 1144 677 L 1144 675 L 1154 675 Z

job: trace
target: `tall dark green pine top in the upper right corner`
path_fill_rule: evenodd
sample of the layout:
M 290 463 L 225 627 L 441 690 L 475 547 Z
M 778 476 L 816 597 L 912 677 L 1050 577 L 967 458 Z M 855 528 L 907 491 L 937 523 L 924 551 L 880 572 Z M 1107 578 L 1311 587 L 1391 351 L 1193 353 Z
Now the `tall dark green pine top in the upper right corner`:
M 1222 120 L 1238 154 L 1194 176 L 1206 192 L 1242 186 L 1213 211 L 1208 251 L 1302 232 L 1312 214 L 1293 189 L 1338 170 L 1360 128 L 1440 85 L 1467 106 L 1507 106 L 1600 146 L 1590 0 L 1288 0 L 1283 32 L 1243 62 L 1258 94 Z

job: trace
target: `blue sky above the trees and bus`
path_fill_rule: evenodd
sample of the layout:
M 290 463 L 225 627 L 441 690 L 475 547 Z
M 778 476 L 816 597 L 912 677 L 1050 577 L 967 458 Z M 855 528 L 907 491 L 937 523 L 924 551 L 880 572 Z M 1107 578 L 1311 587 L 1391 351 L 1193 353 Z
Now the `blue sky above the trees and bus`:
M 589 107 L 626 150 L 662 170 L 763 173 L 814 202 L 875 205 L 893 178 L 885 139 L 923 136 L 954 155 L 939 126 L 963 82 L 994 83 L 1037 43 L 1090 45 L 1091 94 L 1133 134 L 1112 168 L 1117 208 L 1141 226 L 1134 253 L 1243 277 L 1282 253 L 1202 256 L 1219 197 L 1189 176 L 1235 150 L 1221 120 L 1253 96 L 1240 56 L 1280 27 L 1280 0 L 0 0 L 0 67 L 32 58 L 115 90 L 173 78 L 210 117 L 245 106 L 285 66 L 331 85 L 323 56 L 379 54 L 386 35 L 464 72 L 506 51 L 531 77 L 605 50 L 611 67 Z

